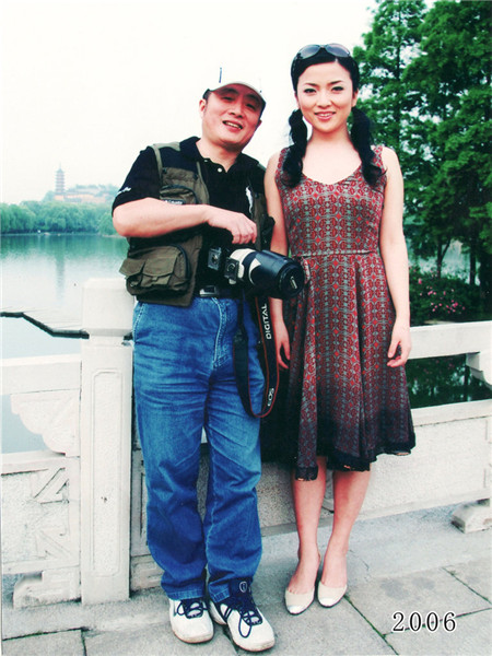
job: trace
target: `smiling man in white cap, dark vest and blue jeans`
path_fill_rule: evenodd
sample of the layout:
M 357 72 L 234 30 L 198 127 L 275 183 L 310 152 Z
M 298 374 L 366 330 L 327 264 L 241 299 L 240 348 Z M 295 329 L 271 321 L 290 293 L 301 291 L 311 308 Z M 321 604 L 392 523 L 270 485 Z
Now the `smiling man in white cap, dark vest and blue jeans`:
M 148 542 L 164 570 L 172 629 L 184 642 L 211 640 L 208 571 L 210 613 L 229 625 L 238 646 L 253 652 L 271 647 L 274 636 L 251 596 L 261 554 L 259 424 L 245 411 L 235 382 L 233 339 L 239 321 L 249 337 L 256 406 L 263 375 L 249 306 L 219 263 L 223 251 L 268 245 L 261 238 L 268 222 L 263 168 L 242 153 L 263 108 L 260 92 L 247 82 L 207 90 L 199 103 L 201 137 L 142 151 L 113 214 L 118 233 L 129 238 L 121 270 L 133 271 L 127 286 L 132 293 L 136 288 L 139 300 L 134 397 L 149 493 Z M 174 273 L 183 254 L 187 259 L 185 292 L 166 291 L 169 276 L 155 270 L 159 257 L 149 259 L 149 254 L 167 257 L 173 248 Z M 141 286 L 143 279 L 152 286 L 157 278 L 163 289 Z M 210 467 L 203 520 L 196 488 L 202 429 Z

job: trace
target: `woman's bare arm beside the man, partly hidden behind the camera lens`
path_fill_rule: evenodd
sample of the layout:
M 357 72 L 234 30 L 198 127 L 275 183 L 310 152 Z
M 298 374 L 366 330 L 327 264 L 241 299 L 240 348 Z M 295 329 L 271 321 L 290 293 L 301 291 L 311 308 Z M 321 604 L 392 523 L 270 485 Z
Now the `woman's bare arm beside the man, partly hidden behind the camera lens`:
M 267 166 L 265 174 L 265 192 L 267 196 L 268 213 L 274 219 L 273 234 L 271 238 L 271 250 L 286 255 L 289 251 L 289 242 L 283 219 L 282 202 L 280 200 L 279 189 L 276 184 L 276 171 L 279 164 L 280 153 L 273 155 Z M 281 298 L 270 298 L 271 320 L 276 336 L 277 361 L 282 368 L 289 367 L 291 359 L 291 345 L 288 330 L 283 320 L 283 302 Z

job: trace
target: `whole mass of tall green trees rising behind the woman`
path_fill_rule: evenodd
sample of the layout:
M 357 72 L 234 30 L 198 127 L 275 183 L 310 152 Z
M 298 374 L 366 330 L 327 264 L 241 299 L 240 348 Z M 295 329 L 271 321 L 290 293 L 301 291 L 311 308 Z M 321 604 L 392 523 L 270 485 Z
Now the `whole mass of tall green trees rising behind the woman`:
M 377 142 L 397 151 L 406 180 L 407 235 L 437 277 L 454 241 L 469 281 L 491 298 L 490 3 L 377 0 L 364 48 L 355 48 L 360 106 Z

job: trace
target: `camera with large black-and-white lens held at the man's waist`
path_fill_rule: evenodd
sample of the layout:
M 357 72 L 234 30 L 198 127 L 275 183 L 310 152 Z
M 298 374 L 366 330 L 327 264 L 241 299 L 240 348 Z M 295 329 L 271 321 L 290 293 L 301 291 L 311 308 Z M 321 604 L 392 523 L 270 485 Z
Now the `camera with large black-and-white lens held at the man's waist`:
M 230 284 L 242 284 L 246 293 L 254 295 L 291 298 L 304 286 L 301 263 L 272 250 L 210 248 L 208 266 Z

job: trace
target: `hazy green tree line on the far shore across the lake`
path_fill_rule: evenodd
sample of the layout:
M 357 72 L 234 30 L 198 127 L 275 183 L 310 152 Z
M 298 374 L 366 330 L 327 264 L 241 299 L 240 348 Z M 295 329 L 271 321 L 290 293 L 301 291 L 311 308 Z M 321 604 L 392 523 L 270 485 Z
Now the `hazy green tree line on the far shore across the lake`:
M 55 200 L 1 204 L 1 234 L 95 233 L 115 234 L 109 204 Z

